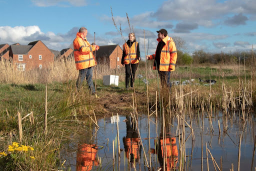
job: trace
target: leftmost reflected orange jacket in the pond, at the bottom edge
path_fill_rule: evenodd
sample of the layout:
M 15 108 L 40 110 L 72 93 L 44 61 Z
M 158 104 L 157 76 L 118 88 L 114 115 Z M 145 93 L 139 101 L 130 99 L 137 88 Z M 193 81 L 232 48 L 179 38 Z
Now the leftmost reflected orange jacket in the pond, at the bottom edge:
M 98 165 L 96 159 L 97 150 L 93 147 L 95 147 L 95 144 L 84 143 L 77 146 L 78 149 L 76 153 L 76 170 L 91 170 L 93 161 L 94 165 Z

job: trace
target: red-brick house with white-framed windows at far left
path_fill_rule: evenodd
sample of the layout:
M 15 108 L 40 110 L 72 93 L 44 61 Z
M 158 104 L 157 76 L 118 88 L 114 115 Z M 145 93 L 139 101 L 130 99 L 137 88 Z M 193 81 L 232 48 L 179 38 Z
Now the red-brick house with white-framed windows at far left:
M 28 70 L 53 64 L 54 54 L 42 41 L 36 40 L 28 45 L 10 45 L 9 56 L 18 70 Z

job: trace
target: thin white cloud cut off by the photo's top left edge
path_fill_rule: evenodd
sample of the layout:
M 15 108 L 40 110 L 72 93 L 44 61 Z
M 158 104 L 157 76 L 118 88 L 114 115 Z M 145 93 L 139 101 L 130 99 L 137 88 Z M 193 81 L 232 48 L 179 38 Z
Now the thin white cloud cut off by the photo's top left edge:
M 87 0 L 31 0 L 36 6 L 85 6 Z

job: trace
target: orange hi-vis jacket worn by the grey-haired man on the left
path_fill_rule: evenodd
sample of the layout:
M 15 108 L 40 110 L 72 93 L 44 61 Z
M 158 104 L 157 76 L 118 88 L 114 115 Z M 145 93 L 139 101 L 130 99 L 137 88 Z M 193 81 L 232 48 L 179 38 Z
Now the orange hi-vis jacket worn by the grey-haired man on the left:
M 84 69 L 96 65 L 92 51 L 95 50 L 94 45 L 90 45 L 89 41 L 82 38 L 81 33 L 76 33 L 76 38 L 73 41 L 74 46 L 74 61 L 76 69 Z

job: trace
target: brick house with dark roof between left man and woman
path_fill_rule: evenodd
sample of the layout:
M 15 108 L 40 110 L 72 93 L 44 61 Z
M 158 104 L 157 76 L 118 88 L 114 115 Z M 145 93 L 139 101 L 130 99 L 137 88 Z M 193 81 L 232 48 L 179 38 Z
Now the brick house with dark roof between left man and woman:
M 115 68 L 115 65 L 118 69 L 122 67 L 121 58 L 122 49 L 118 44 L 101 45 L 96 51 L 97 64 L 108 65 L 110 68 Z

